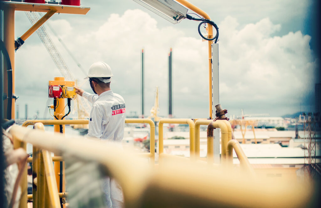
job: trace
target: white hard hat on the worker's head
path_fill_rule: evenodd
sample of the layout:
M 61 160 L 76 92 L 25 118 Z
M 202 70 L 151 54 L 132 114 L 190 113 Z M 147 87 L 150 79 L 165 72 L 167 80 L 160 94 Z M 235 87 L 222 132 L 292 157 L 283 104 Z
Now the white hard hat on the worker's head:
M 111 77 L 113 77 L 113 73 L 111 72 L 111 68 L 109 67 L 108 64 L 106 64 L 103 61 L 97 61 L 95 63 L 93 63 L 89 70 L 88 70 L 88 76 L 85 77 L 84 79 L 88 79 L 90 77 L 110 77 L 110 79 L 103 79 L 100 78 L 99 80 L 102 82 L 110 82 Z

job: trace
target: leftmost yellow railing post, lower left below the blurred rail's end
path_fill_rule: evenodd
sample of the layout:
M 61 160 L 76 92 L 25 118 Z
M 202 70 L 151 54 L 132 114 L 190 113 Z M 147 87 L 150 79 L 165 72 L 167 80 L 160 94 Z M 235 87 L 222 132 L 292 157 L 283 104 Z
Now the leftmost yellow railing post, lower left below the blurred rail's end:
M 18 149 L 18 148 L 23 148 L 24 150 L 27 150 L 27 144 L 25 142 L 21 142 L 17 140 L 15 137 L 13 137 L 13 148 Z M 27 161 L 26 161 L 27 163 Z M 19 167 L 21 169 L 21 167 Z M 28 203 L 28 182 L 27 182 L 27 166 L 25 166 L 22 176 L 21 176 L 21 181 L 20 181 L 20 187 L 21 187 L 21 196 L 20 196 L 20 204 L 19 208 L 27 208 L 27 203 Z

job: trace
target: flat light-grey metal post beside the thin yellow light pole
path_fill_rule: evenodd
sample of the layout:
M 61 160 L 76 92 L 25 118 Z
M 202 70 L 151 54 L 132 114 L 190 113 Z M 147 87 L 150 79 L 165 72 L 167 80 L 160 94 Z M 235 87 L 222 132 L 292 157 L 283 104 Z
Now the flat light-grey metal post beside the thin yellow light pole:
M 215 105 L 219 99 L 219 44 L 212 43 L 212 118 L 215 118 Z M 214 129 L 214 163 L 220 163 L 220 129 Z

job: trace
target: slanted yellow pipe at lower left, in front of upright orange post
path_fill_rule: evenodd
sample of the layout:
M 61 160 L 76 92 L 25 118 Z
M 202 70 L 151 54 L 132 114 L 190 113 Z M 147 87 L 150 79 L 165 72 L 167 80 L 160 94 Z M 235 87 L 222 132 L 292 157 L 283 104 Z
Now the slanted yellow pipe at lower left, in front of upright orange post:
M 60 207 L 60 200 L 58 196 L 58 188 L 56 186 L 56 177 L 54 172 L 54 167 L 52 165 L 51 153 L 47 150 L 42 150 L 43 161 L 45 165 L 45 173 L 47 179 L 48 193 L 50 197 L 50 205 L 52 208 Z M 49 201 L 46 199 L 46 201 Z

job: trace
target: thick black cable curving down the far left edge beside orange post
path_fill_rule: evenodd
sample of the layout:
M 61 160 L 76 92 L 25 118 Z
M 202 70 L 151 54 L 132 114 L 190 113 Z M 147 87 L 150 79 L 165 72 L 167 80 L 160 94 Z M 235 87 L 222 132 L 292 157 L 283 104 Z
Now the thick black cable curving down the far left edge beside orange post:
M 10 120 L 11 119 L 11 109 L 12 109 L 12 66 L 11 66 L 11 61 L 10 61 L 8 51 L 5 48 L 4 42 L 2 40 L 0 41 L 0 49 L 1 49 L 4 59 L 6 60 L 6 63 L 7 63 L 7 74 L 8 74 L 7 75 L 7 78 L 8 78 L 7 119 Z M 3 96 L 3 95 L 1 95 L 1 96 Z M 3 99 L 3 98 L 1 98 L 1 99 Z

